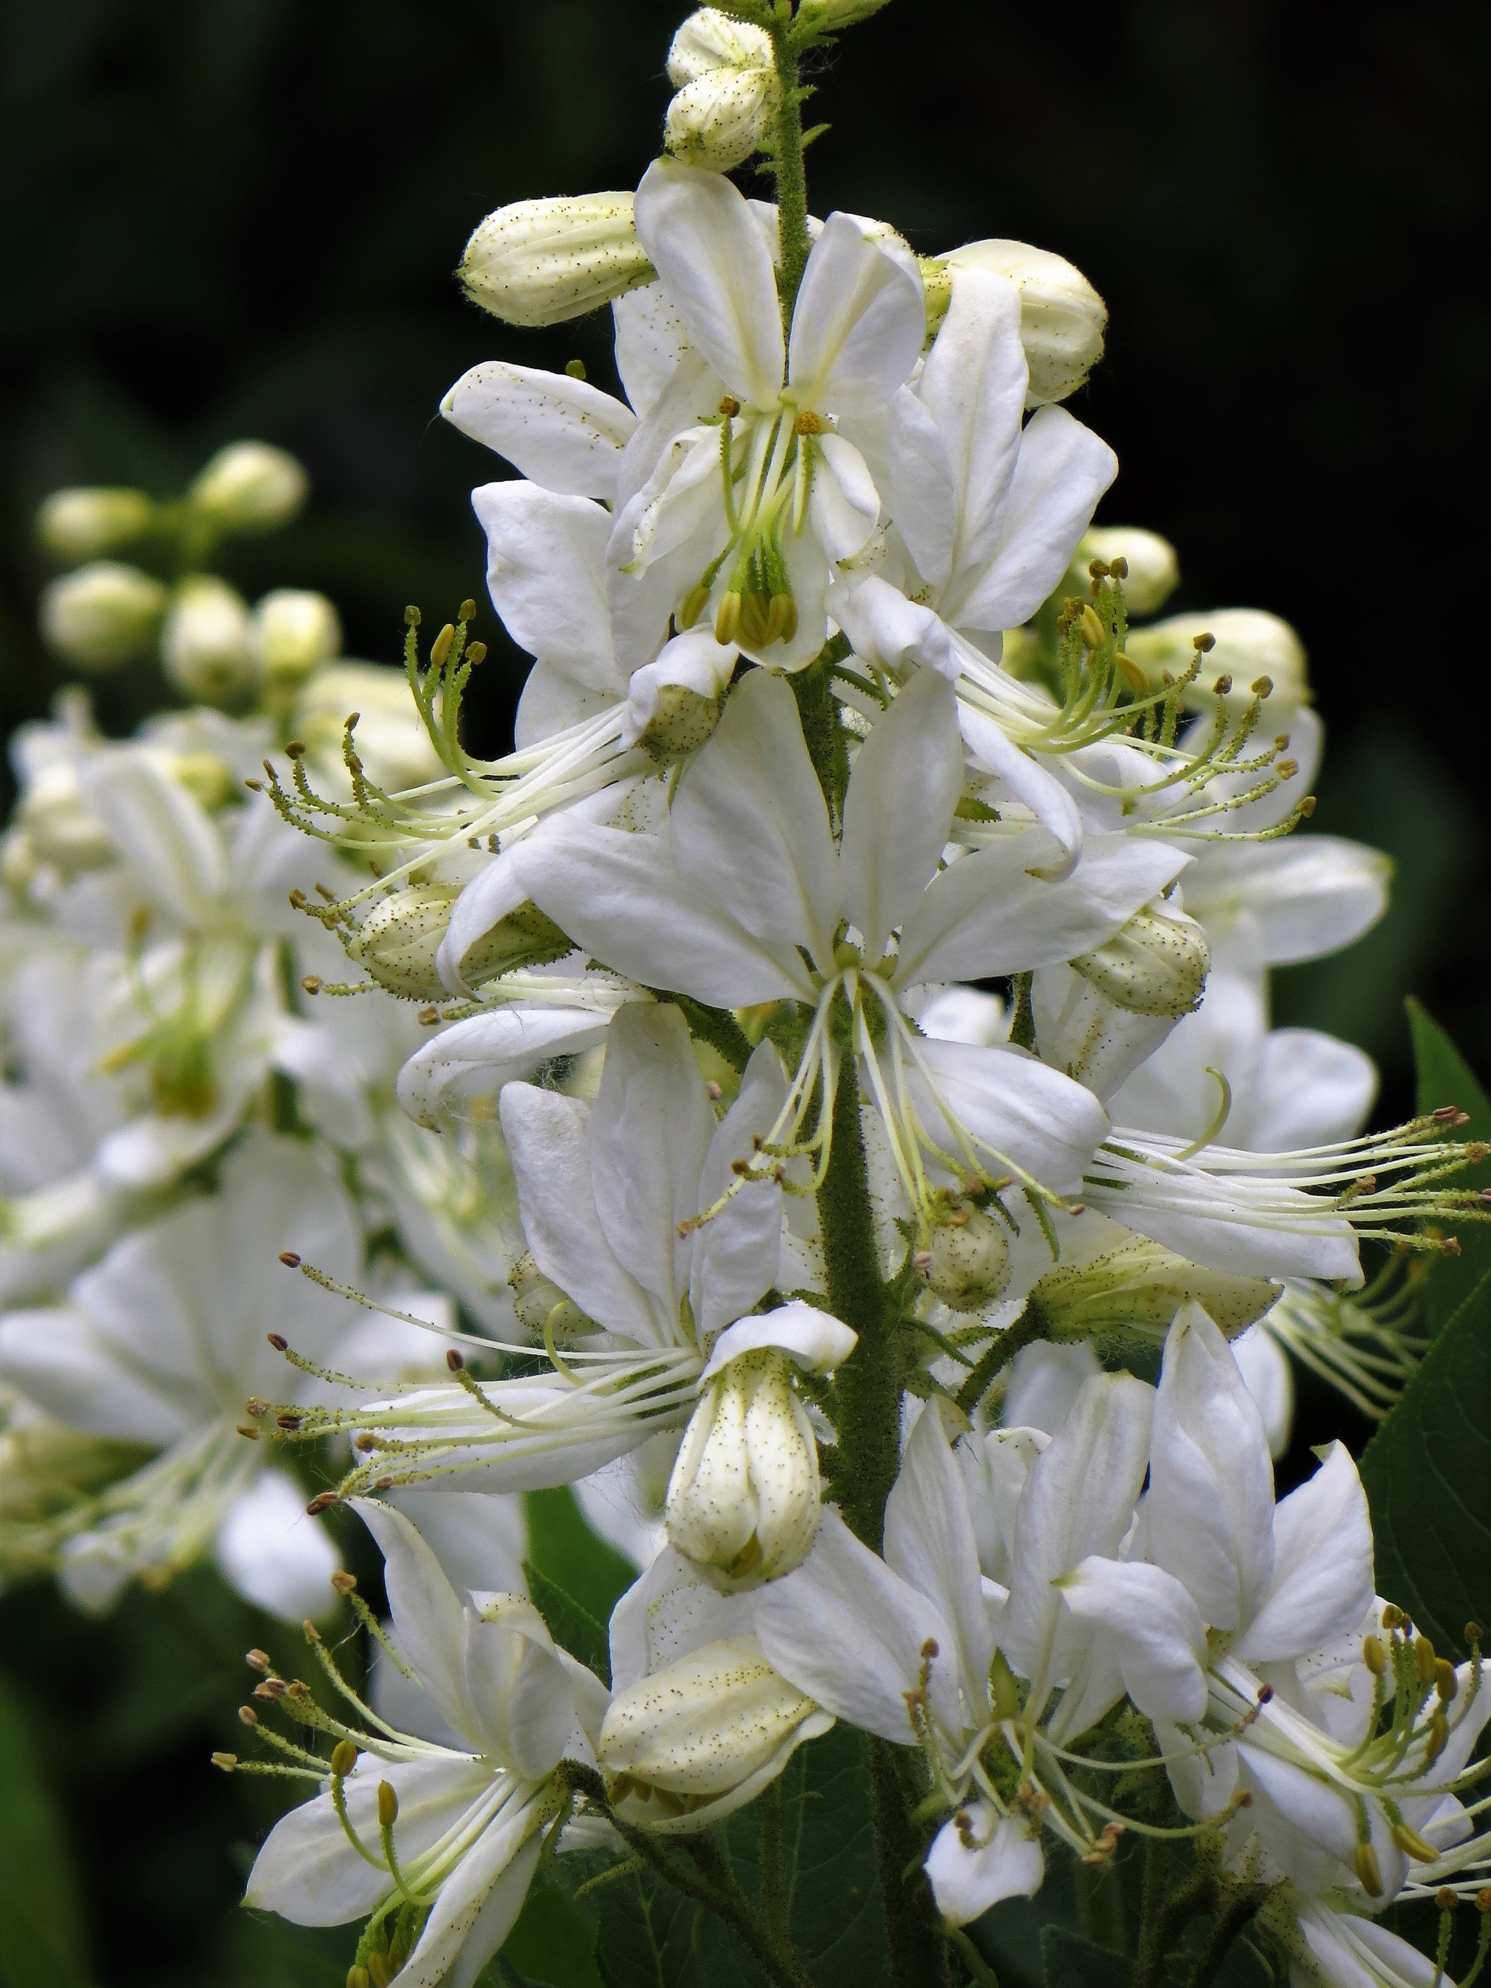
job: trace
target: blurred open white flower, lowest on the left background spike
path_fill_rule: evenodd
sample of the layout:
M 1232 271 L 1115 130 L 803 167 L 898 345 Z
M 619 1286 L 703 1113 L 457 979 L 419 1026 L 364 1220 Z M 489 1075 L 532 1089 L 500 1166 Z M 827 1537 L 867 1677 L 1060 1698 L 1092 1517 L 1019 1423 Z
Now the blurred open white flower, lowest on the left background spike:
M 85 1604 L 211 1553 L 258 1606 L 290 1620 L 324 1612 L 334 1547 L 294 1479 L 266 1463 L 268 1445 L 237 1425 L 248 1398 L 266 1409 L 264 1398 L 310 1404 L 338 1390 L 286 1368 L 264 1334 L 370 1378 L 431 1368 L 433 1334 L 292 1282 L 286 1248 L 340 1282 L 360 1276 L 362 1233 L 334 1157 L 250 1133 L 223 1163 L 221 1193 L 115 1242 L 64 1304 L 0 1320 L 0 1374 L 28 1400 L 74 1429 L 159 1451 L 60 1533 L 64 1578 Z M 439 1316 L 441 1300 L 421 1302 Z

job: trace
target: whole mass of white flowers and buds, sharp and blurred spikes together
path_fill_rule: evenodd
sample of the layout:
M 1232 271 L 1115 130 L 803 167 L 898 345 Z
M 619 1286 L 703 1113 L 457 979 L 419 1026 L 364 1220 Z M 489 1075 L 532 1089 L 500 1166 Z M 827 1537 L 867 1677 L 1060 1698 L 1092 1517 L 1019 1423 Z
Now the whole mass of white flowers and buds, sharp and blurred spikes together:
M 1294 833 L 1294 632 L 1151 620 L 1173 549 L 1091 523 L 1097 292 L 807 213 L 797 62 L 869 12 L 700 10 L 636 193 L 471 239 L 495 316 L 612 310 L 624 396 L 441 402 L 511 753 L 461 736 L 473 602 L 398 676 L 207 571 L 302 501 L 280 451 L 46 503 L 52 648 L 191 704 L 16 746 L 0 1571 L 105 1608 L 211 1557 L 310 1618 L 334 1710 L 252 1652 L 272 1753 L 217 1759 L 312 1783 L 247 1899 L 360 1922 L 350 1988 L 471 1984 L 541 1861 L 656 1863 L 835 1722 L 899 1759 L 907 1980 L 1169 1805 L 1294 1982 L 1437 1982 L 1374 1914 L 1473 1869 L 1479 1648 L 1374 1592 L 1340 1443 L 1272 1457 L 1292 1360 L 1392 1404 L 1485 1149 L 1364 1133 L 1370 1060 L 1270 1026 L 1388 863 Z M 515 1495 L 571 1483 L 640 1567 L 606 1682 L 523 1592 Z

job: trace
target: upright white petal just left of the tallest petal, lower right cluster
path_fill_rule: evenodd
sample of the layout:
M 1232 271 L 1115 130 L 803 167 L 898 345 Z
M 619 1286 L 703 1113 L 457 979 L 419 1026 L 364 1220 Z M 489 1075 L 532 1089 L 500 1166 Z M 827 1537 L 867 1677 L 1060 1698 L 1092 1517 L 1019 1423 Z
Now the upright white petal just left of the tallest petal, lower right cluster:
M 1036 1457 L 1014 1521 L 1010 1600 L 1000 1644 L 1032 1684 L 1032 1704 L 1066 1674 L 1087 1632 L 1052 1584 L 1087 1555 L 1111 1559 L 1129 1529 L 1149 1463 L 1155 1390 L 1129 1374 L 1095 1374 Z

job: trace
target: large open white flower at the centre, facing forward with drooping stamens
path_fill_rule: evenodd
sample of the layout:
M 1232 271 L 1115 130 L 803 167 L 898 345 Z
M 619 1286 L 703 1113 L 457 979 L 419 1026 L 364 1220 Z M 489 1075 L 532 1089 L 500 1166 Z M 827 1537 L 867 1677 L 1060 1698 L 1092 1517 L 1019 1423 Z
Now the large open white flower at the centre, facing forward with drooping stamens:
M 1101 1137 L 1089 1093 L 1008 1046 L 912 1034 L 899 996 L 928 980 L 1012 972 L 1107 938 L 1175 875 L 1173 851 L 1113 837 L 1066 883 L 1040 829 L 996 833 L 946 869 L 962 791 L 950 686 L 922 672 L 861 747 L 843 845 L 807 757 L 789 686 L 753 672 L 690 761 L 660 835 L 561 817 L 517 845 L 523 891 L 596 960 L 710 1004 L 791 1000 L 811 1012 L 797 1076 L 767 1131 L 775 1155 L 827 1165 L 839 1070 L 833 1016 L 891 1137 L 895 1173 L 930 1233 L 934 1179 L 1062 1193 Z M 899 934 L 899 936 L 893 936 Z M 799 1137 L 819 1076 L 817 1131 Z

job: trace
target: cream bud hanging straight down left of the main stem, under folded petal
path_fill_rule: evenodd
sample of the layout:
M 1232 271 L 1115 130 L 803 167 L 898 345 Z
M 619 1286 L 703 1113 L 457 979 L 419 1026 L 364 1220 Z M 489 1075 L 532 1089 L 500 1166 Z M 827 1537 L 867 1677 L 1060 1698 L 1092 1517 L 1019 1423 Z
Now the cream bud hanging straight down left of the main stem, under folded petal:
M 819 1515 L 813 1425 L 787 1380 L 787 1354 L 761 1346 L 706 1384 L 668 1483 L 668 1539 L 718 1586 L 791 1573 Z

